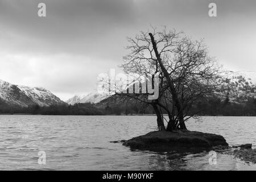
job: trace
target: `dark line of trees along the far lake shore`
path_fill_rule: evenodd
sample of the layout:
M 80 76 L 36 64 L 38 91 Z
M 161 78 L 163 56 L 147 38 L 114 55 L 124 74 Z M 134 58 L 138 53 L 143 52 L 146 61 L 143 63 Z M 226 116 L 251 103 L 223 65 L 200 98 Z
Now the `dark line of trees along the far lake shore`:
M 221 101 L 218 97 L 199 101 L 191 109 L 192 113 L 200 110 L 198 115 L 224 115 L 224 116 L 256 116 L 256 98 L 249 98 L 244 104 Z M 0 114 L 42 114 L 42 115 L 129 115 L 129 114 L 155 114 L 153 107 L 143 107 L 143 104 L 131 102 L 98 107 L 91 103 L 75 105 L 52 105 L 28 107 L 0 105 Z M 163 114 L 168 114 L 163 111 Z M 188 113 L 189 115 L 189 113 Z

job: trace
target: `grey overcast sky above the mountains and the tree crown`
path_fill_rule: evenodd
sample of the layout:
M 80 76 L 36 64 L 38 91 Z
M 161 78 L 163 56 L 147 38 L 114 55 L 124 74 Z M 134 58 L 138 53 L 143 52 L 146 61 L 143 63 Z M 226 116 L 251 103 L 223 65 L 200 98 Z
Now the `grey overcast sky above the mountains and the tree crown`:
M 126 37 L 150 24 L 204 38 L 224 68 L 256 71 L 255 9 L 255 0 L 0 0 L 0 79 L 63 100 L 92 92 L 99 73 L 122 63 Z

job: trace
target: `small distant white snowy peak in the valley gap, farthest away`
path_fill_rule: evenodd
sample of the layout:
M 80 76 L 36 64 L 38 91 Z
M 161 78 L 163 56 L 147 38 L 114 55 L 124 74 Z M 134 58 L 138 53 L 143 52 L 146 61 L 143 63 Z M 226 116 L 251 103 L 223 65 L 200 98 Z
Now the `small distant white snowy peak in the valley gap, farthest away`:
M 96 104 L 108 97 L 110 96 L 105 93 L 92 92 L 92 93 L 86 94 L 85 96 L 74 96 L 72 98 L 69 98 L 69 100 L 67 100 L 66 102 L 71 105 L 74 105 L 77 103 L 87 103 L 87 102 Z

